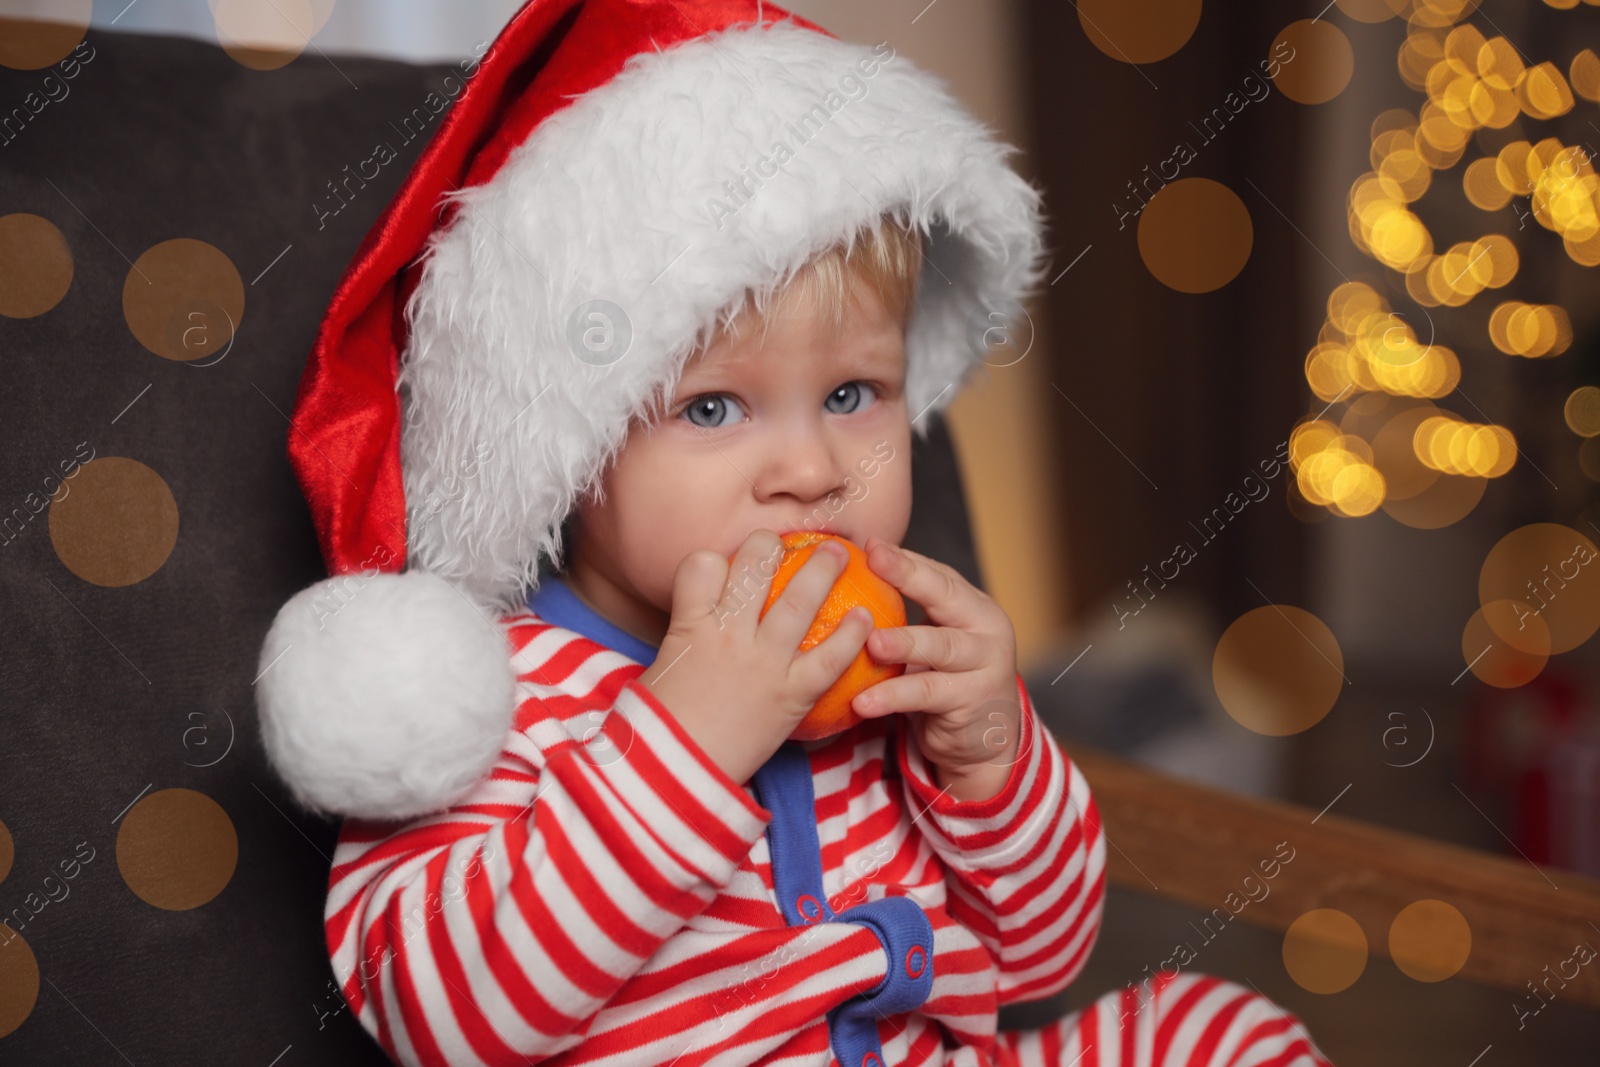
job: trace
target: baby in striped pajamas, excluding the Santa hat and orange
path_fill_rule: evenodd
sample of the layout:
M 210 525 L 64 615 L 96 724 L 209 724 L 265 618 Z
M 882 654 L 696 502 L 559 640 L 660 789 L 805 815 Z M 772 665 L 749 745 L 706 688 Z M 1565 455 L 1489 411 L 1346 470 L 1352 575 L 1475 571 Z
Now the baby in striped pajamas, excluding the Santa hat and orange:
M 1000 1005 L 1083 968 L 1106 841 L 1005 609 L 898 547 L 917 258 L 883 219 L 765 314 L 752 294 L 582 501 L 566 573 L 501 621 L 518 710 L 493 776 L 440 816 L 344 822 L 328 947 L 397 1061 L 1325 1062 L 1197 974 L 997 1032 Z M 866 459 L 870 491 L 835 512 Z M 757 606 L 778 534 L 814 526 L 930 624 L 854 609 L 797 654 L 842 553 Z M 907 673 L 856 697 L 864 723 L 786 741 L 862 645 Z M 1174 1037 L 1202 1051 L 1163 1057 Z

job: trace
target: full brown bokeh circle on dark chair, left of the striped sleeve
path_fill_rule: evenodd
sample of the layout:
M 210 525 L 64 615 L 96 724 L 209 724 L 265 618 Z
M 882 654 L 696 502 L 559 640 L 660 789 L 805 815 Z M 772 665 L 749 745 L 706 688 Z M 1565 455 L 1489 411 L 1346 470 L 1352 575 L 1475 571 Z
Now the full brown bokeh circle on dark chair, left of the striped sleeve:
M 238 833 L 221 805 L 192 789 L 162 789 L 128 809 L 117 829 L 117 870 L 146 904 L 186 912 L 234 878 Z

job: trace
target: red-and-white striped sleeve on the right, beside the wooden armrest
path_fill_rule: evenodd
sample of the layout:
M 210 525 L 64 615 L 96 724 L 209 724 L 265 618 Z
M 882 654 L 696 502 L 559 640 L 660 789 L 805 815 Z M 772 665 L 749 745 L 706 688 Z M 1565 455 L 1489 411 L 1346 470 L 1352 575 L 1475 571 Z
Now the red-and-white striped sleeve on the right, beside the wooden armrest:
M 1016 763 L 989 800 L 955 800 L 910 729 L 896 729 L 906 801 L 944 861 L 949 913 L 989 949 L 1000 1003 L 1067 987 L 1088 961 L 1106 904 L 1106 841 L 1088 781 L 1022 705 Z

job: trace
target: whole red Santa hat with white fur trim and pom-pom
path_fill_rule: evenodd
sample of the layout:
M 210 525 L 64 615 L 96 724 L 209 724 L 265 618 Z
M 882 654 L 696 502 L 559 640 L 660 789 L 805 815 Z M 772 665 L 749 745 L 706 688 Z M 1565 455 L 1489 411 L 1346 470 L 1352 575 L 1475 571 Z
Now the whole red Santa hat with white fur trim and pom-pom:
M 1042 278 L 1014 149 L 890 45 L 760 0 L 531 0 L 366 234 L 290 432 L 328 573 L 261 654 L 307 808 L 461 800 L 512 729 L 496 616 L 746 291 L 893 213 L 922 234 L 907 408 L 944 408 Z M 926 434 L 926 419 L 917 421 Z

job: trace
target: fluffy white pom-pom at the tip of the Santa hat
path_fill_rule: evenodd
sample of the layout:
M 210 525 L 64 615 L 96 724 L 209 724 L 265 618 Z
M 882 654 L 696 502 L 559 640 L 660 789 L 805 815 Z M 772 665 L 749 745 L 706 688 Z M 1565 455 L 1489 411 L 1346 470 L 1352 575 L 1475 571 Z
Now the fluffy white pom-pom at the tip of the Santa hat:
M 258 672 L 267 758 L 302 805 L 331 814 L 448 808 L 494 766 L 514 718 L 504 632 L 427 571 L 301 590 Z

